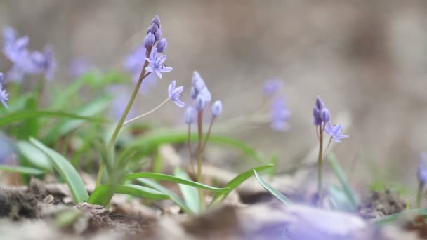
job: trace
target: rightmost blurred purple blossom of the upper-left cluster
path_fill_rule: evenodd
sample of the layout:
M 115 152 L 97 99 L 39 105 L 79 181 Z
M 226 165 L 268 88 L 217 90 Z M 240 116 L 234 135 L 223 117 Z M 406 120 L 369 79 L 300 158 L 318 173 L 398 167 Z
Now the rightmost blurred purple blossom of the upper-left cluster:
M 56 60 L 53 56 L 51 46 L 46 46 L 43 52 L 34 51 L 32 53 L 32 60 L 34 62 L 34 72 L 44 74 L 47 80 L 53 79 L 53 74 L 56 70 Z

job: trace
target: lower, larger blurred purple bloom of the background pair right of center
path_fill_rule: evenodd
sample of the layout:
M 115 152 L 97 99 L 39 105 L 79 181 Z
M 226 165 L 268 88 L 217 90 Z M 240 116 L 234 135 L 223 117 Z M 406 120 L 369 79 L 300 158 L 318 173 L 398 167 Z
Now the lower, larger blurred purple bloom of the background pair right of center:
M 287 121 L 291 116 L 291 112 L 287 107 L 283 97 L 277 97 L 272 102 L 271 107 L 271 127 L 275 131 L 287 131 L 289 125 Z

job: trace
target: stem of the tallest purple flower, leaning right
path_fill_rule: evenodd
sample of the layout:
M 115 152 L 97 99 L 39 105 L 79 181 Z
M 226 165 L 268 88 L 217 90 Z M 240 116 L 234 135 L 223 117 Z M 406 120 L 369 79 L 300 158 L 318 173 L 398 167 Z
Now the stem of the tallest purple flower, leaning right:
M 150 56 L 152 48 L 147 48 L 147 52 L 145 53 L 145 58 Z M 145 60 L 143 69 L 141 71 L 141 74 L 139 76 L 138 82 L 136 83 L 135 88 L 133 89 L 133 93 L 131 95 L 131 98 L 129 99 L 128 105 L 126 105 L 126 109 L 124 109 L 123 114 L 121 114 L 121 118 L 119 122 L 117 123 L 116 128 L 114 129 L 114 133 L 112 133 L 112 136 L 110 138 L 110 141 L 108 142 L 107 148 L 111 149 L 112 152 L 114 152 L 114 142 L 116 142 L 117 135 L 119 135 L 119 131 L 121 129 L 121 126 L 123 126 L 124 120 L 126 119 L 126 116 L 128 116 L 129 111 L 131 110 L 131 107 L 133 105 L 133 102 L 135 101 L 136 95 L 138 94 L 139 88 L 141 84 L 143 83 L 143 80 L 145 79 L 145 68 L 148 66 L 148 61 Z M 96 176 L 96 187 L 98 187 L 101 183 L 101 180 L 103 179 L 103 173 L 104 173 L 105 164 L 103 161 L 101 161 L 98 175 Z

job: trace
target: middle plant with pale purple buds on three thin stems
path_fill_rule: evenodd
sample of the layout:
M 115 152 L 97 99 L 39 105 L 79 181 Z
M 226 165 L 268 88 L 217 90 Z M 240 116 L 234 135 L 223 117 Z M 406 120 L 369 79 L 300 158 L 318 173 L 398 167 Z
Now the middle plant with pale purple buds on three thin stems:
M 197 122 L 197 134 L 199 136 L 198 147 L 197 147 L 197 182 L 202 182 L 202 154 L 206 142 L 209 140 L 209 135 L 212 130 L 213 122 L 215 119 L 221 115 L 223 112 L 222 102 L 217 100 L 211 105 L 211 121 L 209 124 L 209 129 L 206 133 L 206 137 L 203 135 L 203 116 L 206 106 L 209 105 L 209 102 L 212 100 L 212 95 L 209 89 L 207 88 L 202 76 L 199 72 L 195 71 L 192 74 L 191 79 L 191 91 L 190 96 L 194 100 L 193 105 L 188 107 L 185 111 L 185 123 L 188 124 L 188 149 L 190 151 L 190 161 L 192 169 L 194 171 L 194 166 L 192 163 L 192 154 L 191 154 L 191 124 Z M 200 204 L 203 205 L 203 192 L 199 191 Z

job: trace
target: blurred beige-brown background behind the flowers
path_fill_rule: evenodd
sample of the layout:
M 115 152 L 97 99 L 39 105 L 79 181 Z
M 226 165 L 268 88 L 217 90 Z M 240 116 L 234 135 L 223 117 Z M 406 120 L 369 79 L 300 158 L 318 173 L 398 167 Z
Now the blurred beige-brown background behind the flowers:
M 227 121 L 257 111 L 265 79 L 283 79 L 288 131 L 242 124 L 227 134 L 278 152 L 282 169 L 295 166 L 316 145 L 311 112 L 320 95 L 332 122 L 350 116 L 343 123 L 350 138 L 334 152 L 353 182 L 416 189 L 418 154 L 427 151 L 427 1 L 0 1 L 0 27 L 29 36 L 33 49 L 51 44 L 55 81 L 64 83 L 75 57 L 122 70 L 154 15 L 174 70 L 138 98 L 138 111 L 158 105 L 172 79 L 187 87 L 188 100 L 197 70 Z M 0 71 L 9 67 L 1 55 Z M 152 118 L 183 124 L 182 114 L 169 105 Z

